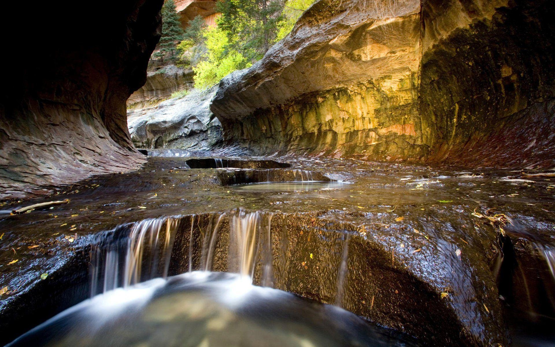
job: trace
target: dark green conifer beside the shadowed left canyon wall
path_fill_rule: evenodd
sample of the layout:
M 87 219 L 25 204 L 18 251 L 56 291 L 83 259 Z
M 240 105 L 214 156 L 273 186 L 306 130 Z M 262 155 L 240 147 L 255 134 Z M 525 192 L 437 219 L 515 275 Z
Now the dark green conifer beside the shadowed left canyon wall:
M 179 22 L 179 14 L 175 10 L 173 0 L 168 0 L 162 6 L 162 37 L 158 42 L 158 47 L 154 51 L 153 57 L 174 61 L 177 59 L 177 44 L 183 40 L 183 28 Z

